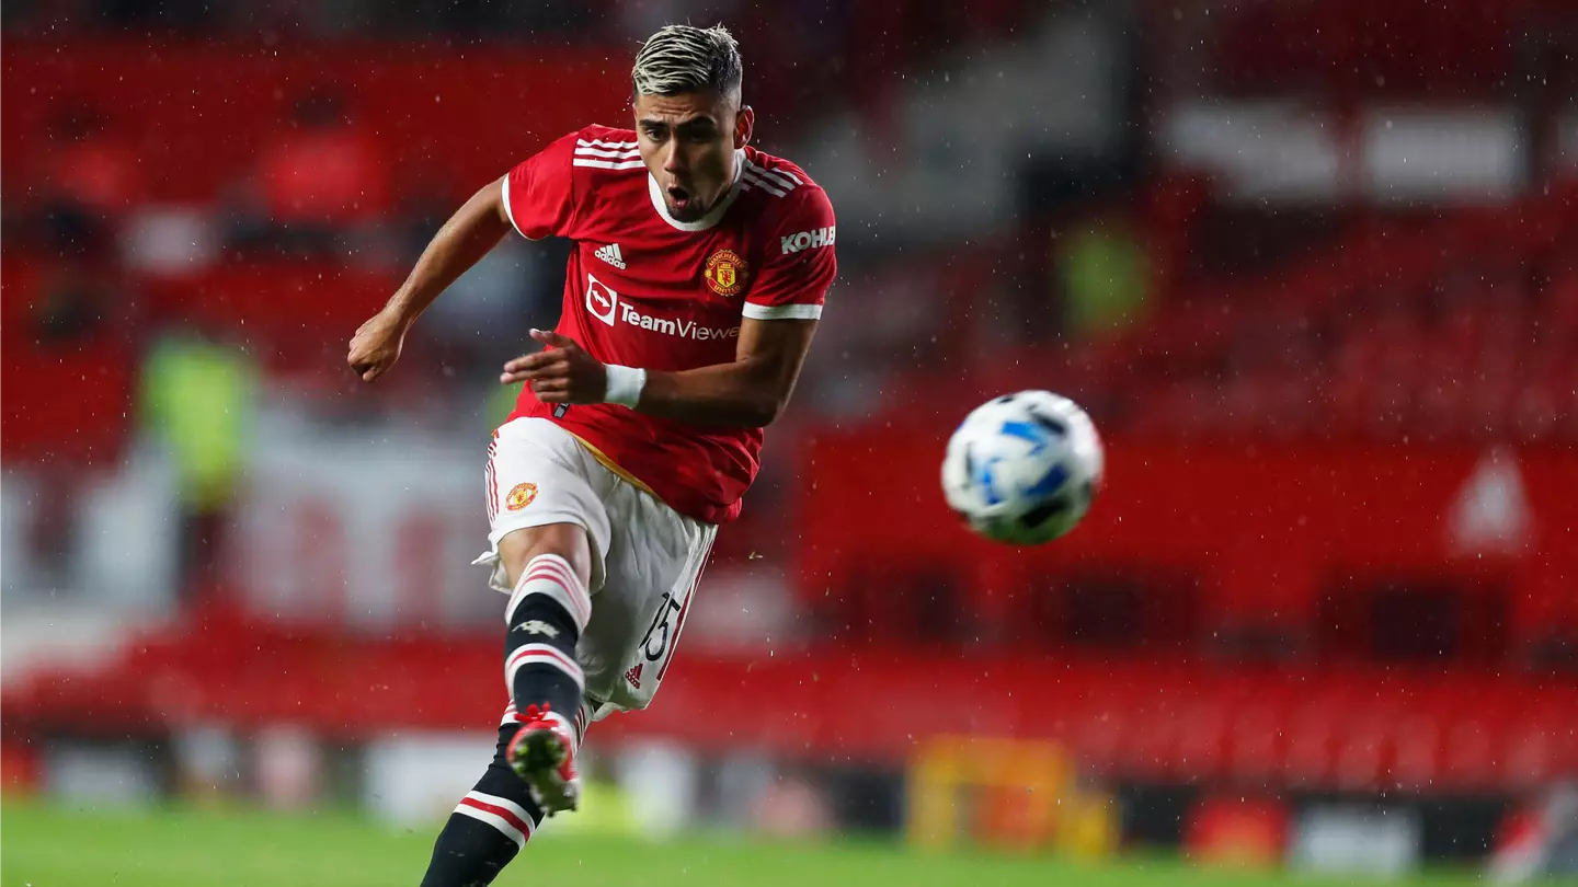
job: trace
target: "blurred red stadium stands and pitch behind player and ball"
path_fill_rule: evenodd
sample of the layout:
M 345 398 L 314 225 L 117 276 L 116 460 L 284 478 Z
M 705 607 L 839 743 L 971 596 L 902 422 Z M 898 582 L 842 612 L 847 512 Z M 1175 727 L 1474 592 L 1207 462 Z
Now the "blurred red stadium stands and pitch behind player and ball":
M 567 251 L 507 241 L 374 388 L 344 344 L 686 19 L 740 36 L 841 283 L 533 873 L 1572 862 L 1572 3 L 39 0 L 0 5 L 0 879 L 415 882 L 505 701 L 491 380 Z M 1109 481 L 1010 551 L 937 462 L 1027 387 Z M 720 832 L 768 844 L 674 849 Z

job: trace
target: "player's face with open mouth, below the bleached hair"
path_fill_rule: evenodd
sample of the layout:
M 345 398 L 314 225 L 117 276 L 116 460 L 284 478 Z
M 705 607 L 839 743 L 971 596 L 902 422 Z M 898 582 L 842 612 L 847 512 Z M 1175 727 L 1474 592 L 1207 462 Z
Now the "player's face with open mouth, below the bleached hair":
M 636 96 L 641 159 L 663 188 L 669 215 L 696 221 L 734 183 L 734 152 L 751 137 L 753 114 L 739 93 Z

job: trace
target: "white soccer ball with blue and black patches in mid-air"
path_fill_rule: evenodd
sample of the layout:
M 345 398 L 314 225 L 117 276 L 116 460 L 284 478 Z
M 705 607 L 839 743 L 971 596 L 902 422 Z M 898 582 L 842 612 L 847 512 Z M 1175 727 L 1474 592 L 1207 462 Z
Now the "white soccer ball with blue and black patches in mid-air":
M 1101 486 L 1101 439 L 1068 398 L 1016 391 L 964 417 L 942 459 L 942 492 L 977 533 L 1041 545 L 1075 529 Z

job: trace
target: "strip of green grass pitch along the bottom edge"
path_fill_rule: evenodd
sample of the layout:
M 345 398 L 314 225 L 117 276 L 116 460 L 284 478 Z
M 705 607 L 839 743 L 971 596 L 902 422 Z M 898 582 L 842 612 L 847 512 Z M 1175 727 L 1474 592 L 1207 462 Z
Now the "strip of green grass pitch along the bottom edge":
M 0 803 L 0 887 L 393 887 L 415 885 L 439 825 L 383 827 L 352 814 L 76 810 Z M 691 838 L 543 835 L 495 884 L 502 887 L 1193 887 L 1321 879 L 1213 871 L 1179 862 L 1071 863 L 1002 854 L 917 854 L 876 843 L 762 844 Z M 1363 882 L 1363 881 L 1360 881 Z M 1379 881 L 1374 881 L 1381 884 Z M 1445 874 L 1384 884 L 1479 884 Z

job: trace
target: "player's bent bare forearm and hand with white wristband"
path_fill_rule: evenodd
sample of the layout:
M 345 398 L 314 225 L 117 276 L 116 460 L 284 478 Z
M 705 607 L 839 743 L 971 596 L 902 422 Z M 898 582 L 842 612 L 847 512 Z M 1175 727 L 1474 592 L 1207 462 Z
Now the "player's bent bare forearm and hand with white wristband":
M 761 428 L 787 406 L 814 333 L 816 320 L 745 317 L 732 363 L 660 372 L 604 366 L 574 341 L 532 330 L 549 349 L 503 365 L 499 380 L 525 382 L 548 404 L 622 402 L 690 425 Z

